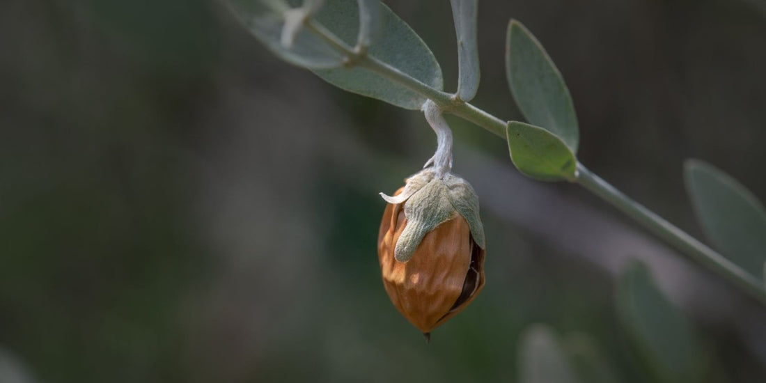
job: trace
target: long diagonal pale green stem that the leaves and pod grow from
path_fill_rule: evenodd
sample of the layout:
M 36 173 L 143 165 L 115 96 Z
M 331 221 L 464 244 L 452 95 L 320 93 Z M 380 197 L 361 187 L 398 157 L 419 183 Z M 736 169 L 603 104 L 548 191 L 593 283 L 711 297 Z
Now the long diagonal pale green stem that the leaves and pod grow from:
M 343 54 L 346 54 L 352 64 L 364 67 L 381 77 L 399 83 L 433 101 L 445 113 L 451 113 L 466 119 L 467 121 L 475 123 L 477 126 L 481 126 L 489 132 L 500 136 L 502 139 L 507 140 L 506 121 L 486 113 L 470 103 L 463 102 L 453 94 L 436 90 L 428 86 L 426 83 L 411 77 L 409 74 L 405 74 L 401 70 L 379 61 L 375 57 L 369 56 L 368 54 L 358 54 L 325 28 L 318 28 L 321 26 L 313 24 L 313 21 L 309 21 L 308 27 L 319 34 L 321 38 L 331 43 L 333 47 L 336 47 L 336 49 Z M 647 228 L 653 234 L 661 237 L 682 254 L 685 254 L 700 264 L 704 264 L 710 270 L 721 274 L 723 277 L 734 283 L 735 286 L 740 287 L 741 290 L 745 290 L 745 292 L 754 296 L 761 303 L 766 304 L 766 290 L 764 290 L 761 280 L 751 276 L 741 267 L 732 263 L 732 261 L 726 259 L 721 254 L 718 254 L 710 247 L 705 246 L 702 242 L 697 241 L 689 234 L 686 234 L 685 231 L 676 228 L 676 226 L 655 214 L 653 211 L 650 211 L 638 202 L 633 201 L 633 199 L 630 199 L 627 195 L 624 195 L 621 191 L 617 190 L 617 188 L 609 185 L 609 183 L 585 168 L 580 162 L 577 164 L 577 169 L 578 175 L 575 182 L 601 197 L 604 201 L 609 202 L 628 217 L 633 218 L 633 220 L 642 224 L 644 228 Z

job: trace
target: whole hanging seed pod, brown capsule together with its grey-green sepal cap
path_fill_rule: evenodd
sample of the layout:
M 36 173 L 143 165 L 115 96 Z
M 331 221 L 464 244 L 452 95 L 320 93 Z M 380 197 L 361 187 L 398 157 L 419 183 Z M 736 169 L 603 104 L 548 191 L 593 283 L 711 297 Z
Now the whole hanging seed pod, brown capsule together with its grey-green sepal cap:
M 402 193 L 409 195 L 398 198 Z M 386 199 L 395 203 L 386 206 L 378 232 L 383 285 L 398 311 L 428 334 L 484 286 L 478 200 L 462 178 L 434 177 L 428 169 Z

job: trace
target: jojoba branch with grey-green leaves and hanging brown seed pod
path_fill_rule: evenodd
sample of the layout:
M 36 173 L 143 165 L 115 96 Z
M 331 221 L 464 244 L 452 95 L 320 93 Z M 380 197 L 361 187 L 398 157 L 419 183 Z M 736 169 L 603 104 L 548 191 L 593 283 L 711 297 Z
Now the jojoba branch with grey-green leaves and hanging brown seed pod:
M 451 173 L 452 135 L 445 113 L 505 139 L 523 174 L 583 186 L 766 304 L 766 212 L 761 202 L 724 172 L 698 160 L 687 162 L 692 203 L 719 254 L 588 170 L 577 159 L 578 119 L 566 83 L 519 21 L 509 21 L 507 29 L 506 75 L 526 122 L 504 121 L 470 103 L 480 83 L 477 0 L 450 1 L 459 68 L 454 93 L 443 90 L 441 69 L 427 44 L 378 0 L 225 3 L 284 61 L 349 92 L 421 110 L 437 133 L 437 152 L 424 169 L 393 196 L 383 195 L 388 205 L 378 237 L 385 290 L 427 336 L 464 309 L 484 285 L 486 246 L 478 198 Z

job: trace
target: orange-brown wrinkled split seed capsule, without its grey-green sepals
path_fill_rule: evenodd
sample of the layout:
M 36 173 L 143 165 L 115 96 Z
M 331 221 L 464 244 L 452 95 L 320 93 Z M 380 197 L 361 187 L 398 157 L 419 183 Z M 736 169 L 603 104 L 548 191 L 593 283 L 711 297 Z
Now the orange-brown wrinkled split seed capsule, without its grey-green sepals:
M 457 180 L 464 182 L 462 178 Z M 404 188 L 395 195 L 402 191 Z M 481 235 L 477 243 L 469 222 L 452 209 L 446 221 L 424 235 L 411 257 L 400 261 L 394 257 L 394 250 L 408 224 L 406 203 L 389 203 L 385 208 L 378 232 L 378 260 L 391 303 L 428 337 L 431 330 L 460 313 L 482 290 L 486 254 L 480 246 L 483 229 L 478 224 L 474 230 Z

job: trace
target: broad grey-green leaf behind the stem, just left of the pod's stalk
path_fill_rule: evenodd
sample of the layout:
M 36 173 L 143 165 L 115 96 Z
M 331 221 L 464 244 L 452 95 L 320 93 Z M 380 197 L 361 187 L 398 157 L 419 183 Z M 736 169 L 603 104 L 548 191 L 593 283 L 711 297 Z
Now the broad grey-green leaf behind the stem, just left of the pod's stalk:
M 355 0 L 329 0 L 316 19 L 327 28 L 332 28 L 333 33 L 346 44 L 352 45 L 357 39 L 358 25 L 350 24 L 348 19 L 349 15 L 357 13 Z M 368 54 L 434 89 L 442 90 L 441 68 L 423 40 L 385 5 L 380 5 L 380 14 L 380 38 L 370 47 Z M 420 94 L 362 67 L 314 70 L 314 73 L 336 87 L 404 109 L 421 109 L 426 101 Z

